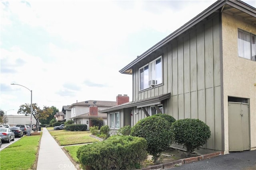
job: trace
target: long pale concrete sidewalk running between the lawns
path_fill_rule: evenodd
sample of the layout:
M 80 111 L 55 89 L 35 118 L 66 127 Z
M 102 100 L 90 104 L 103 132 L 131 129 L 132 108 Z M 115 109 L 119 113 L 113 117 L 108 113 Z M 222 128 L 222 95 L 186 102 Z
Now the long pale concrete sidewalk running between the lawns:
M 77 170 L 46 128 L 43 134 L 37 162 L 37 170 Z

